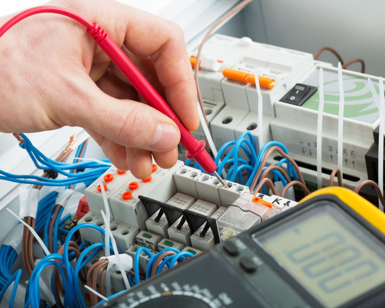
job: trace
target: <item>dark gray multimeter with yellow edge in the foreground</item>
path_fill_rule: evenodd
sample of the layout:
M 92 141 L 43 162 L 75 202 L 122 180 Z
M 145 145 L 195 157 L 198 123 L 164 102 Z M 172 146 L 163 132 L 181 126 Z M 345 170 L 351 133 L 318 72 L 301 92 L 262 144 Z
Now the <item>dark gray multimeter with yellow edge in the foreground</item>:
M 323 188 L 100 306 L 383 308 L 385 214 Z

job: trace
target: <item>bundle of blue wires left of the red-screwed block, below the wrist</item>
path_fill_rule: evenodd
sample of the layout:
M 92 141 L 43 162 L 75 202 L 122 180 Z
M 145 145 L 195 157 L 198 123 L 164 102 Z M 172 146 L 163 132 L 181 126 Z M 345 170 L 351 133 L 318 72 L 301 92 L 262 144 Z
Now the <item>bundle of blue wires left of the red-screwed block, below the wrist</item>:
M 37 175 L 13 175 L 12 173 L 5 172 L 0 170 L 0 180 L 7 180 L 16 183 L 25 183 L 25 184 L 37 184 L 45 186 L 67 186 L 73 185 L 76 183 L 90 183 L 91 181 L 96 180 L 104 171 L 109 168 L 109 165 L 103 163 L 98 163 L 95 161 L 82 161 L 79 163 L 62 163 L 59 161 L 52 160 L 35 148 L 30 140 L 24 134 L 20 134 L 24 142 L 20 144 L 20 147 L 25 149 L 32 159 L 36 168 L 41 170 L 53 170 L 56 171 L 59 175 L 64 175 L 66 178 L 63 179 L 53 179 L 53 178 L 44 178 Z M 109 163 L 107 159 L 100 159 Z M 79 170 L 79 169 L 88 169 L 80 173 L 71 173 L 66 170 Z

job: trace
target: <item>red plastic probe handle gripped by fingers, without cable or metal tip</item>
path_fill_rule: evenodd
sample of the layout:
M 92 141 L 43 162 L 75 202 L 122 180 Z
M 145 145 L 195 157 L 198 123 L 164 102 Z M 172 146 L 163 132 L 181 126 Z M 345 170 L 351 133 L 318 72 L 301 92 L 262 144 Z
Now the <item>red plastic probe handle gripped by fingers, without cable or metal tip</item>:
M 159 110 L 167 117 L 171 118 L 181 132 L 181 143 L 186 148 L 187 158 L 194 158 L 196 162 L 207 173 L 213 173 L 217 166 L 211 156 L 207 153 L 204 141 L 198 141 L 179 120 L 175 112 L 164 101 L 158 92 L 148 82 L 146 77 L 131 62 L 123 50 L 112 40 L 112 38 L 97 24 L 88 29 L 87 32 L 94 38 L 95 42 L 104 50 L 112 62 L 122 71 L 124 76 L 131 82 L 134 88 L 139 92 L 144 100 L 156 110 Z

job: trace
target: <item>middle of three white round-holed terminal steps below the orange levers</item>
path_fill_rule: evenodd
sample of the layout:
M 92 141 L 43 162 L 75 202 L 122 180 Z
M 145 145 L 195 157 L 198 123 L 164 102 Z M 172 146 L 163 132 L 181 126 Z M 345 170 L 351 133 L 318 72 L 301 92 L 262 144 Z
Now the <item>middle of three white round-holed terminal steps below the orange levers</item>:
M 216 148 L 231 140 L 235 140 L 235 130 L 243 121 L 249 110 L 225 106 L 210 123 Z M 224 153 L 227 153 L 226 150 Z

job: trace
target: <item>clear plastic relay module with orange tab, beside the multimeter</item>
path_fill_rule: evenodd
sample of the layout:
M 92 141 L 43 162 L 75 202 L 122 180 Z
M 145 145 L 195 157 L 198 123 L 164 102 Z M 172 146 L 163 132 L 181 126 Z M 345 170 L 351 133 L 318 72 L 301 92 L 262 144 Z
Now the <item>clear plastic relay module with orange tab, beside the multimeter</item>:
M 252 193 L 243 193 L 226 211 L 218 218 L 218 232 L 221 241 L 228 240 L 261 223 L 277 214 L 276 206 L 264 201 Z

